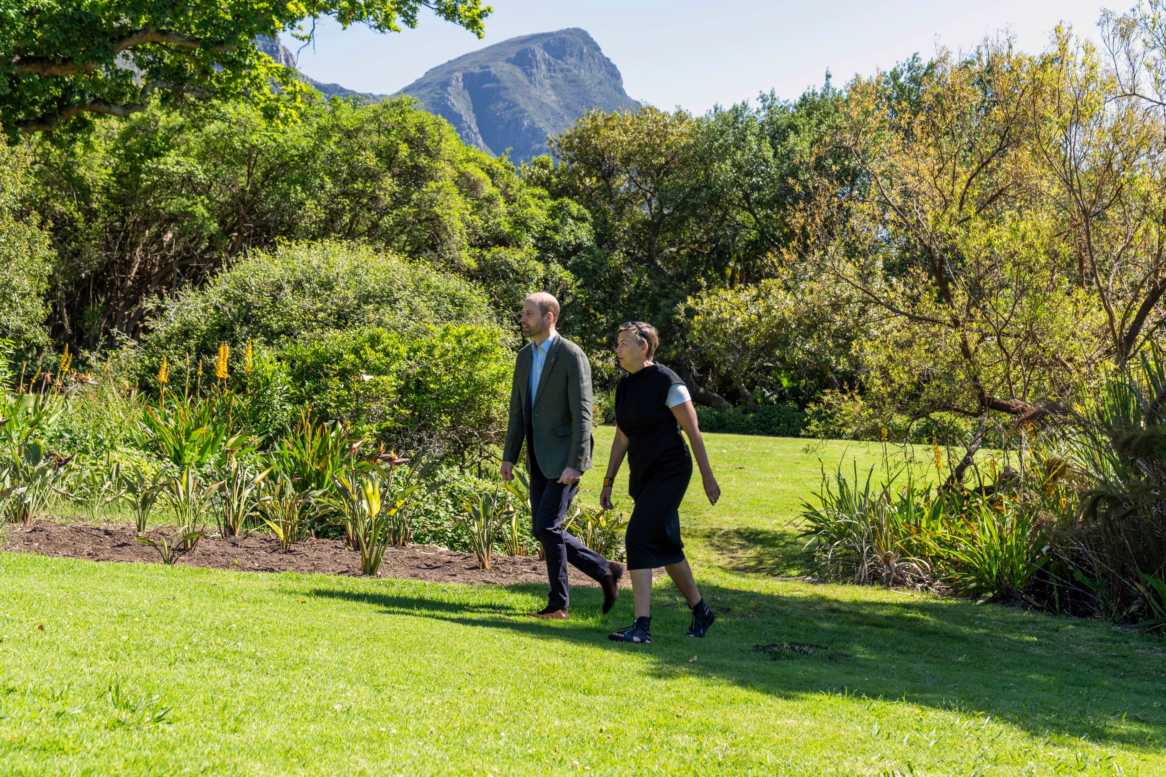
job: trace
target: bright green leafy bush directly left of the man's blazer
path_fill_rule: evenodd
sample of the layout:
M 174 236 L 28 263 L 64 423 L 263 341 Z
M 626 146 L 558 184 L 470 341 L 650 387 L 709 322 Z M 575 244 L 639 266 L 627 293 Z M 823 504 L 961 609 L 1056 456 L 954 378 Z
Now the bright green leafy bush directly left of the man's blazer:
M 285 352 L 297 398 L 396 452 L 482 455 L 500 443 L 513 354 L 493 326 L 447 324 L 414 335 L 328 332 Z

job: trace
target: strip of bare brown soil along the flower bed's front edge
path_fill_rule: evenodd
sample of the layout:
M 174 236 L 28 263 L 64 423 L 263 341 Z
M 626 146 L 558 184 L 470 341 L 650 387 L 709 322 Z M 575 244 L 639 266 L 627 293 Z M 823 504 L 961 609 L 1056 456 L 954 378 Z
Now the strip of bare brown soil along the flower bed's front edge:
M 159 529 L 149 535 L 156 539 L 163 532 L 169 538 L 174 529 Z M 6 550 L 92 561 L 161 563 L 159 552 L 138 542 L 131 528 L 114 523 L 86 527 L 40 521 L 31 527 L 10 525 Z M 342 539 L 305 539 L 283 552 L 279 541 L 267 534 L 230 539 L 203 537 L 194 552 L 180 555 L 177 564 L 248 572 L 360 574 L 360 553 L 347 548 Z M 575 567 L 570 567 L 569 574 L 571 585 L 597 585 Z M 538 556 L 494 556 L 491 568 L 480 570 L 471 555 L 430 545 L 410 545 L 389 549 L 385 553 L 380 577 L 430 582 L 546 584 L 547 565 Z M 631 585 L 626 574 L 620 582 Z

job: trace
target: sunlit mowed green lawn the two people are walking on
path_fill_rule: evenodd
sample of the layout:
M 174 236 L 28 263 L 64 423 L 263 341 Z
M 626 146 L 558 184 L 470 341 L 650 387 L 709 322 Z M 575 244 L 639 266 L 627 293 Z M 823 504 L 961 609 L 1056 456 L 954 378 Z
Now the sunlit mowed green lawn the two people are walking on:
M 598 442 L 584 487 L 610 430 Z M 631 596 L 603 616 L 597 589 L 545 623 L 522 616 L 545 586 L 0 553 L 0 772 L 1166 774 L 1163 642 L 780 580 L 805 565 L 787 523 L 819 458 L 862 467 L 880 451 L 709 443 L 724 500 L 701 507 L 694 479 L 683 513 L 721 613 L 700 641 L 666 580 L 654 643 L 633 647 L 606 638 Z M 791 642 L 822 649 L 754 650 Z

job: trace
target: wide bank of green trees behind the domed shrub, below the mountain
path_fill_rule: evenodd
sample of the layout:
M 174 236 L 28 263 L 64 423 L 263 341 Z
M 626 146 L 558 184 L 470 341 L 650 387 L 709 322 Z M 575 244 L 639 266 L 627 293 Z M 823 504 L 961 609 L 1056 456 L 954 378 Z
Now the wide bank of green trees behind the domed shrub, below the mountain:
M 154 107 L 40 139 L 27 204 L 51 221 L 59 256 L 55 338 L 78 351 L 140 337 L 145 303 L 281 239 L 401 253 L 484 282 L 510 312 L 556 273 L 539 248 L 586 240 L 585 220 L 412 106 L 332 100 L 292 123 L 237 103 Z

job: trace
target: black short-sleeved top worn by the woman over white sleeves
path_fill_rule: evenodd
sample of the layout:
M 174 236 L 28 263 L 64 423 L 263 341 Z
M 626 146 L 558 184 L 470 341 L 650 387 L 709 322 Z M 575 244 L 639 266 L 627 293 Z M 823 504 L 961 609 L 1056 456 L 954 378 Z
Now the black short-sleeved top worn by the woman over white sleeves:
M 691 468 L 680 423 L 666 404 L 668 389 L 683 384 L 676 373 L 649 365 L 625 373 L 616 384 L 616 425 L 627 436 L 628 493 L 634 497 L 658 473 Z

